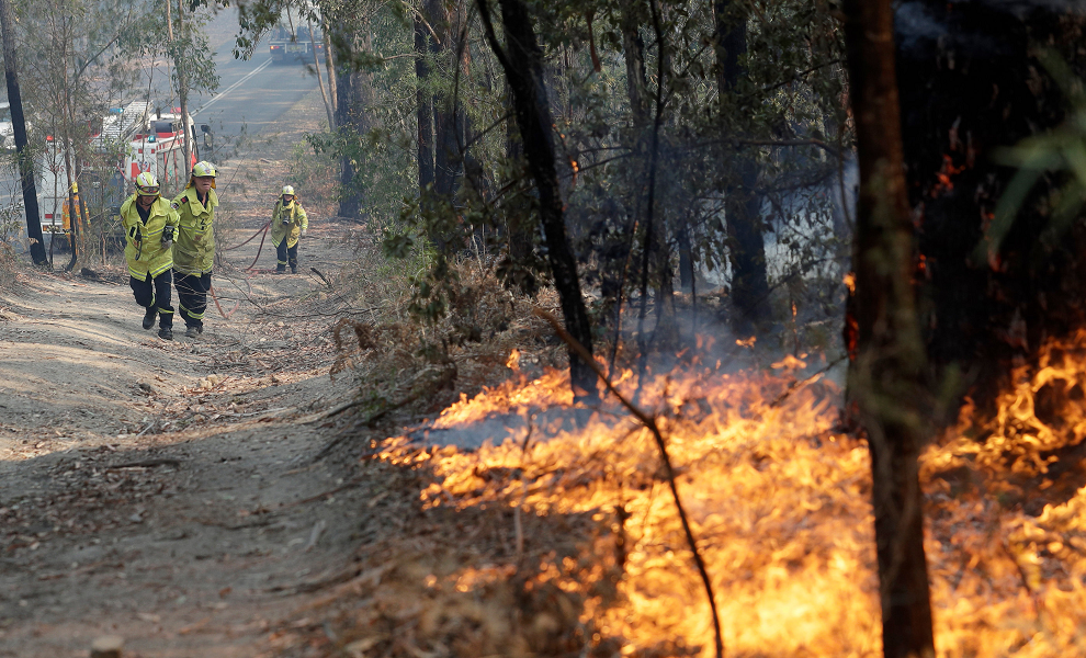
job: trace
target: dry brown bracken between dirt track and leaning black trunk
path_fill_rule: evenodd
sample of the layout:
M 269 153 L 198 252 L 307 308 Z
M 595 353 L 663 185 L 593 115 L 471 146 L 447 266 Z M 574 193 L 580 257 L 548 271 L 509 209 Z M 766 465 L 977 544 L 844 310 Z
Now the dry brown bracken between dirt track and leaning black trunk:
M 439 390 L 428 392 L 410 407 L 401 405 L 417 415 L 430 415 L 509 378 L 512 371 L 506 364 L 514 349 L 521 355 L 521 371 L 529 376 L 563 365 L 565 349 L 559 349 L 546 322 L 532 314 L 536 307 L 557 313 L 553 291 L 535 299 L 516 295 L 491 270 L 463 259 L 452 268 L 457 285 L 448 314 L 427 324 L 407 311 L 411 262 L 389 262 L 361 230 L 347 239 L 354 242 L 357 260 L 340 273 L 337 285 L 348 290 L 354 302 L 336 330 L 340 355 L 332 375 L 353 374 L 363 399 L 378 407 L 400 402 L 420 373 L 439 368 L 445 373 Z

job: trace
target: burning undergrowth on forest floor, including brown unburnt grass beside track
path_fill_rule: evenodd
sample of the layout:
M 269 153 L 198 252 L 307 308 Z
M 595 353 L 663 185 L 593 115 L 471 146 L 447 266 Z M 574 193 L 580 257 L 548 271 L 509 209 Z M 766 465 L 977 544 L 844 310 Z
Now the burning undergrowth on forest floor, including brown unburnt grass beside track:
M 690 363 L 652 377 L 638 404 L 667 440 L 726 654 L 881 655 L 868 451 L 837 430 L 839 390 L 792 358 L 739 372 Z M 995 418 L 966 408 L 921 460 L 940 656 L 1079 655 L 1086 643 L 1086 331 L 1015 379 Z M 631 395 L 634 381 L 616 387 Z M 326 644 L 350 656 L 712 655 L 652 436 L 613 401 L 576 409 L 567 390 L 554 371 L 520 375 L 430 423 L 432 440 L 523 419 L 478 450 L 385 442 L 381 460 L 422 475 L 429 530 L 391 542 L 326 600 L 341 614 Z

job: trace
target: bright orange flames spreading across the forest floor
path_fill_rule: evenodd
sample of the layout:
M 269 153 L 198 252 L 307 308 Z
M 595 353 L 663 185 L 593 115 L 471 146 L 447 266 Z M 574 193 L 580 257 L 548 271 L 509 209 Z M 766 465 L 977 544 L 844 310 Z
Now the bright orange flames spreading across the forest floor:
M 680 474 L 728 655 L 874 658 L 881 622 L 868 451 L 838 433 L 833 384 L 801 385 L 805 366 L 789 356 L 771 368 L 672 372 L 648 382 L 640 399 Z M 1086 478 L 1076 461 L 1086 454 L 1086 331 L 1051 341 L 1014 381 L 991 420 L 966 406 L 920 460 L 941 658 L 1076 656 L 1086 646 Z M 634 385 L 621 374 L 620 390 Z M 568 390 L 554 371 L 508 382 L 463 398 L 433 426 L 470 432 L 488 418 L 570 409 Z M 619 639 L 623 655 L 655 655 L 661 638 L 711 655 L 709 606 L 648 433 L 616 407 L 580 426 L 541 423 L 475 452 L 421 457 L 437 475 L 425 504 L 591 517 L 601 530 L 585 553 L 596 566 L 544 558 L 535 581 L 584 593 L 584 622 Z M 398 450 L 407 443 L 392 440 L 384 457 L 417 463 L 417 453 Z M 600 556 L 620 544 L 622 564 L 608 566 Z M 621 577 L 609 600 L 597 592 L 613 568 Z M 455 583 L 472 590 L 500 572 L 464 569 Z

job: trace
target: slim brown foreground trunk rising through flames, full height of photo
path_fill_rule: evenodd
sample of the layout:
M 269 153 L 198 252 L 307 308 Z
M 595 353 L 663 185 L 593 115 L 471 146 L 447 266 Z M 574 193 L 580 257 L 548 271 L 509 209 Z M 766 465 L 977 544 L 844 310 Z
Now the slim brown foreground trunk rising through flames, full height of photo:
M 845 38 L 860 196 L 852 264 L 848 402 L 871 452 L 886 658 L 935 656 L 917 456 L 926 436 L 925 353 L 913 291 L 891 0 L 846 0 Z

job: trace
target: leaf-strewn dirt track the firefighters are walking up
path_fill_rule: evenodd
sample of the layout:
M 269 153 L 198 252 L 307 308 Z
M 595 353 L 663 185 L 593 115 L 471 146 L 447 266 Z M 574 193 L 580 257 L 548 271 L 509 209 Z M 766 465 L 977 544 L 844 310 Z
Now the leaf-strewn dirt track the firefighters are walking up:
M 282 184 L 263 161 L 234 200 L 241 238 Z M 120 271 L 26 268 L 0 295 L 0 656 L 87 656 L 110 634 L 129 657 L 254 656 L 350 570 L 380 478 L 313 464 L 354 387 L 329 378 L 336 291 L 307 268 L 333 279 L 355 228 L 310 209 L 296 276 L 242 283 L 259 240 L 227 252 L 223 309 L 242 302 L 229 319 L 211 306 L 196 340 L 140 329 Z

